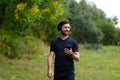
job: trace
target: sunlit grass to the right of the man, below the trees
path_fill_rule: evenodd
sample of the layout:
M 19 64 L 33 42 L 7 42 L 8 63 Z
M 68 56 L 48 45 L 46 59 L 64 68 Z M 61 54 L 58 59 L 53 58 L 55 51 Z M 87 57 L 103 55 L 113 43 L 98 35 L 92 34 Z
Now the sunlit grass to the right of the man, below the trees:
M 76 80 L 119 80 L 120 47 L 100 50 L 81 49 L 81 61 L 76 63 Z

